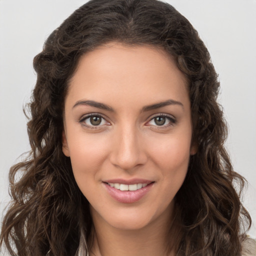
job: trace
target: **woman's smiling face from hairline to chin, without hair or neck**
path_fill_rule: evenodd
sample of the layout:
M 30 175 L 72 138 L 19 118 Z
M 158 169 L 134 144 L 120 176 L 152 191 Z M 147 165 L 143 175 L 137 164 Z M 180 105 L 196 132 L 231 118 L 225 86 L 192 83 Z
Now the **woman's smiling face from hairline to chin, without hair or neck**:
M 191 132 L 187 82 L 164 51 L 109 43 L 80 58 L 65 99 L 63 153 L 94 222 L 166 223 L 195 153 Z

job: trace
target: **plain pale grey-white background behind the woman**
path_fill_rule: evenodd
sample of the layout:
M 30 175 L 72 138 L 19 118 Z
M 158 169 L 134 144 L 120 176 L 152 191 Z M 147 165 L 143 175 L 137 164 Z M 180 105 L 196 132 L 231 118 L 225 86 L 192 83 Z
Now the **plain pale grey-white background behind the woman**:
M 85 0 L 0 0 L 0 219 L 9 200 L 8 169 L 29 150 L 22 107 L 35 84 L 32 59 L 50 32 Z M 168 0 L 206 44 L 229 125 L 234 170 L 249 185 L 244 204 L 256 237 L 256 0 Z

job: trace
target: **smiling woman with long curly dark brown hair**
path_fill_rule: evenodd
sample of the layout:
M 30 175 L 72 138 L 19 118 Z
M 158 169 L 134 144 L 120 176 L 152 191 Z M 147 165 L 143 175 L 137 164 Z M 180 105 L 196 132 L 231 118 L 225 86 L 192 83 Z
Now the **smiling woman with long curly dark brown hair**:
M 31 153 L 10 170 L 1 231 L 11 255 L 246 255 L 244 181 L 187 19 L 156 0 L 93 0 L 34 68 Z

